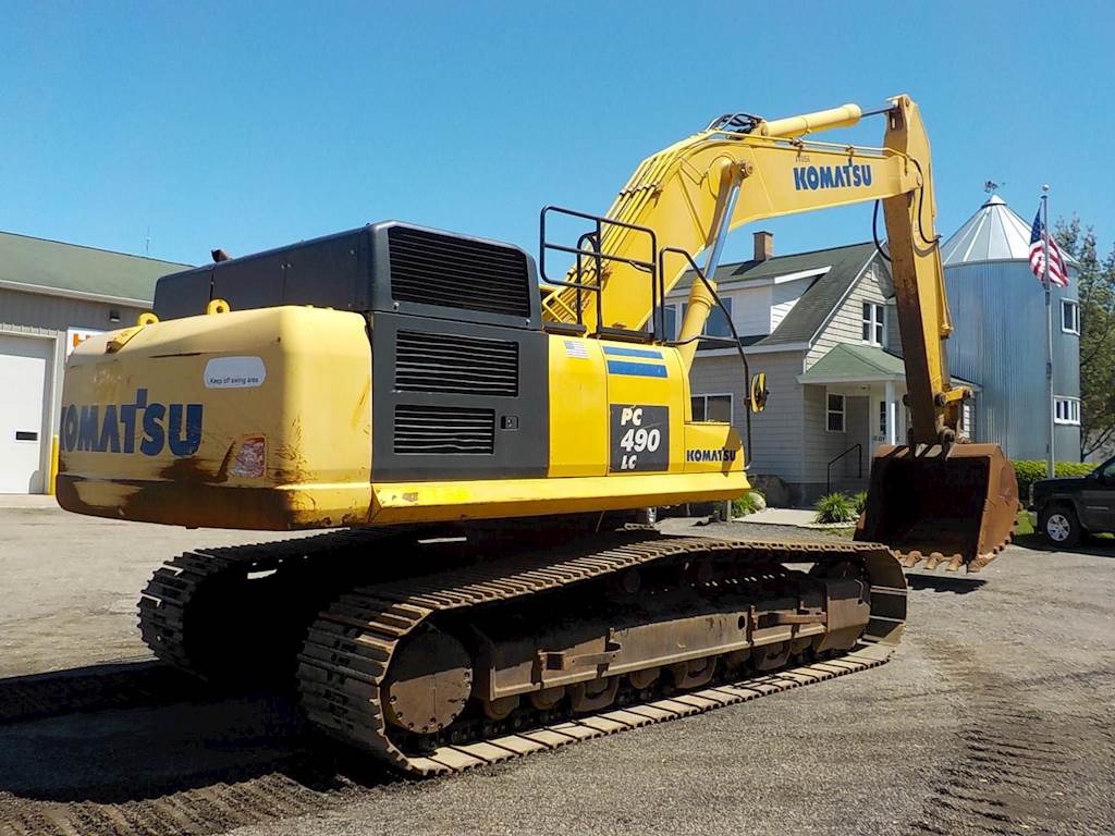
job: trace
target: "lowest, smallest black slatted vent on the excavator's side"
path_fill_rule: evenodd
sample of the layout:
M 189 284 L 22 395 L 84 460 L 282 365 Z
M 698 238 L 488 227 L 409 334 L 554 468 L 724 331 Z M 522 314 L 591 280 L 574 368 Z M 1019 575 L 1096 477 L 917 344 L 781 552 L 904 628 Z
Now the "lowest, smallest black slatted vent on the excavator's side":
M 399 405 L 395 407 L 399 454 L 495 453 L 495 410 Z

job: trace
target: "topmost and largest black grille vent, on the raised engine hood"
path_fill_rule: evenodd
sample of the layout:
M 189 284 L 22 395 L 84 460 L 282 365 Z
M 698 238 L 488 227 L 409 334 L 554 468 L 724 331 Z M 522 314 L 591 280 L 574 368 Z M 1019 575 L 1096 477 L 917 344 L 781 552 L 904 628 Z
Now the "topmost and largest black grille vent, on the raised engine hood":
M 391 297 L 398 302 L 531 315 L 526 255 L 506 246 L 392 226 Z

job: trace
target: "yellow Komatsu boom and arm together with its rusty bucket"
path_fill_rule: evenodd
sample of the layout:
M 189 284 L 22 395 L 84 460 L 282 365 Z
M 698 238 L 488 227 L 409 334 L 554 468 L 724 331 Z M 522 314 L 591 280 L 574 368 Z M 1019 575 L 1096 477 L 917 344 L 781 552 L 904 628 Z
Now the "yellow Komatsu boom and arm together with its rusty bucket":
M 943 561 L 953 568 L 979 568 L 1009 541 L 1018 508 L 1014 472 L 997 446 L 954 446 L 961 405 L 971 391 L 949 377 L 944 340 L 952 322 L 933 230 L 929 137 L 909 96 L 896 96 L 869 115 L 875 114 L 886 119 L 881 147 L 812 138 L 860 121 L 863 111 L 844 105 L 770 121 L 724 116 L 655 154 L 612 204 L 607 217 L 619 223 L 605 224 L 590 243 L 604 257 L 589 260 L 574 283 L 595 284 L 599 293 L 563 286 L 543 307 L 558 322 L 646 328 L 656 291 L 637 253 L 646 246 L 640 231 L 652 230 L 659 244 L 706 254 L 706 281 L 691 285 L 677 340 L 688 369 L 716 303 L 712 275 L 731 230 L 780 215 L 881 202 L 911 427 L 909 445 L 876 455 L 859 535 L 891 544 L 911 564 L 924 557 L 932 565 Z M 686 268 L 675 264 L 659 278 L 663 298 Z

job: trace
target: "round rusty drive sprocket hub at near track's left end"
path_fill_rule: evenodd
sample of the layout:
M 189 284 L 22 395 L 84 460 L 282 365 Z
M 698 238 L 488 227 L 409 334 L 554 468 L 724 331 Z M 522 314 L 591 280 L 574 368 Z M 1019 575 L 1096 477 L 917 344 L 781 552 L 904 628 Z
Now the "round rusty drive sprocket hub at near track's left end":
M 473 689 L 473 661 L 448 633 L 427 626 L 405 644 L 382 686 L 384 716 L 405 731 L 433 735 L 457 719 Z

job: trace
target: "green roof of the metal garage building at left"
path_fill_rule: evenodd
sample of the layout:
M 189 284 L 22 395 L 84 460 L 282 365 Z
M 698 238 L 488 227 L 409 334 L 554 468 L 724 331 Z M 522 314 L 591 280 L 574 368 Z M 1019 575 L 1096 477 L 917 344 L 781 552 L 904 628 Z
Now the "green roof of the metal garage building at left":
M 0 284 L 26 286 L 31 293 L 151 302 L 159 276 L 190 266 L 0 232 Z

